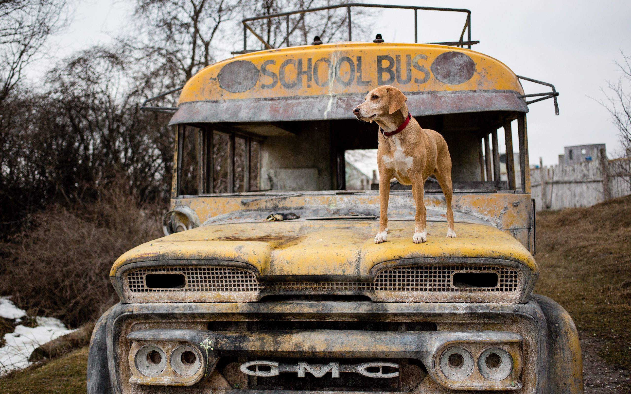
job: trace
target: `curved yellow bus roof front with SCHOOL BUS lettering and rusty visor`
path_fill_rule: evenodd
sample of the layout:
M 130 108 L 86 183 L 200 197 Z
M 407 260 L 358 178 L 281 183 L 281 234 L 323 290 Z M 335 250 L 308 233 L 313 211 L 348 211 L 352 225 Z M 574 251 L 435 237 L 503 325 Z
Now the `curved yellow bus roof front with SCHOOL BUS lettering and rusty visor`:
M 479 52 L 421 43 L 341 42 L 261 50 L 187 81 L 171 124 L 354 119 L 370 90 L 390 84 L 413 116 L 528 112 L 509 67 Z

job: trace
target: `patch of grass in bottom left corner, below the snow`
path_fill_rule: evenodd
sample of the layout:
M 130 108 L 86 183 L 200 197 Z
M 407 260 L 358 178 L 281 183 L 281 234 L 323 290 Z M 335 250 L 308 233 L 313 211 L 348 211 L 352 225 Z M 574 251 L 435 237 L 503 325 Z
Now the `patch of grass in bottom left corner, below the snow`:
M 86 392 L 88 347 L 0 379 L 0 393 L 81 394 Z

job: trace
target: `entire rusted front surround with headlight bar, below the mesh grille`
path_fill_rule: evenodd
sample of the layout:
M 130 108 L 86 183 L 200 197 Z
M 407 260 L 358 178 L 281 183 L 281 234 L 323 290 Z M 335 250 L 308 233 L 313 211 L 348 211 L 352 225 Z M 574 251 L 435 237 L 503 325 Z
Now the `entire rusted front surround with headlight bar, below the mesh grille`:
M 341 364 L 352 364 L 347 361 L 354 359 L 416 359 L 427 369 L 429 376 L 411 391 L 413 393 L 446 393 L 452 390 L 455 390 L 454 393 L 459 390 L 545 392 L 548 338 L 545 317 L 535 301 L 526 304 L 369 301 L 119 304 L 104 317 L 106 321 L 101 323 L 100 330 L 107 337 L 108 380 L 112 391 L 117 394 L 167 393 L 174 389 L 173 386 L 191 386 L 191 390 L 200 393 L 215 392 L 217 388 L 207 389 L 206 385 L 212 380 L 211 374 L 221 357 L 235 360 L 238 357 L 241 364 L 252 359 L 280 360 L 289 357 L 307 363 L 311 362 L 310 359 L 327 359 Z M 266 320 L 432 322 L 436 328 L 434 331 L 408 332 L 208 329 L 209 322 Z M 136 366 L 136 353 L 143 346 L 145 349 L 150 349 L 147 346 L 162 349 L 164 368 L 153 376 L 139 373 Z M 177 348 L 180 348 L 180 353 L 185 349 L 182 346 L 196 354 L 200 361 L 199 369 L 184 377 L 175 373 L 169 361 Z M 97 349 L 96 345 L 94 348 Z M 454 349 L 464 356 L 465 367 L 471 368 L 466 376 L 448 370 L 448 366 L 445 370 L 446 357 L 454 353 Z M 480 364 L 480 359 L 488 354 L 488 349 L 500 349 L 496 351 L 498 354 L 503 349 L 505 354 L 510 355 L 512 369 L 507 376 L 489 379 L 487 370 L 485 377 L 485 367 Z M 467 355 L 471 358 L 468 359 Z M 224 391 L 233 394 L 251 391 L 232 389 L 228 387 Z M 180 387 L 179 390 L 186 388 Z

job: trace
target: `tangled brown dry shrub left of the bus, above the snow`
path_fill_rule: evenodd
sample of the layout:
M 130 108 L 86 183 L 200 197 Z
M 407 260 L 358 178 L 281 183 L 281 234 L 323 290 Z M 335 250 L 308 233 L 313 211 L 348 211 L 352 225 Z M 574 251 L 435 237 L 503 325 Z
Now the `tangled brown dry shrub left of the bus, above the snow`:
M 55 316 L 69 327 L 95 320 L 118 301 L 109 270 L 119 255 L 162 236 L 157 204 L 100 190 L 93 203 L 52 207 L 28 217 L 30 231 L 0 243 L 0 294 L 29 315 Z

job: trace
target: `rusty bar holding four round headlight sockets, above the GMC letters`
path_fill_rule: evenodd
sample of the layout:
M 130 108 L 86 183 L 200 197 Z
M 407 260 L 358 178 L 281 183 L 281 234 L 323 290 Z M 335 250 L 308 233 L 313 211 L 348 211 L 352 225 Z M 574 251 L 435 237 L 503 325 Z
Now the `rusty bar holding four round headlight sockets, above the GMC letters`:
M 283 330 L 227 332 L 206 330 L 138 330 L 129 333 L 131 382 L 140 385 L 194 385 L 213 373 L 220 357 L 304 357 L 305 359 L 417 359 L 433 380 L 453 390 L 517 390 L 521 388 L 522 337 L 505 331 L 375 332 L 355 330 Z M 162 350 L 180 363 L 179 344 L 203 360 L 186 378 L 177 366 L 165 362 L 158 374 L 143 374 L 136 368 L 146 357 L 143 347 Z M 185 346 L 186 346 L 185 345 Z M 182 345 L 180 345 L 182 346 Z M 500 376 L 485 366 L 488 349 L 506 357 Z M 454 351 L 460 356 L 449 364 Z M 172 354 L 168 354 L 170 352 Z M 496 354 L 496 353 L 493 353 Z M 163 356 L 160 356 L 161 358 Z M 464 358 L 463 358 L 464 357 Z M 189 363 L 193 364 L 193 362 Z M 396 364 L 395 364 L 396 365 Z M 501 364 L 500 364 L 501 368 Z M 287 371 L 290 372 L 290 371 Z

